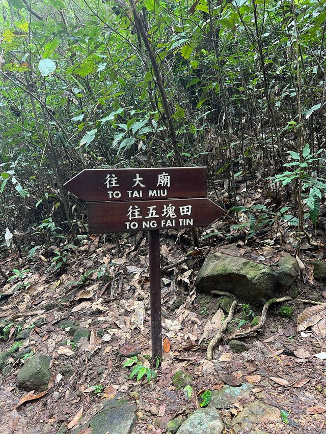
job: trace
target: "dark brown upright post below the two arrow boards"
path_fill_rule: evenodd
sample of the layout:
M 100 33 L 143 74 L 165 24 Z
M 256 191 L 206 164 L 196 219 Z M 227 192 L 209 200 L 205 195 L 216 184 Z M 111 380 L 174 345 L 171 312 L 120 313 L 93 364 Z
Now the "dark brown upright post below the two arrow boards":
M 159 230 L 148 231 L 152 362 L 162 360 L 161 276 Z

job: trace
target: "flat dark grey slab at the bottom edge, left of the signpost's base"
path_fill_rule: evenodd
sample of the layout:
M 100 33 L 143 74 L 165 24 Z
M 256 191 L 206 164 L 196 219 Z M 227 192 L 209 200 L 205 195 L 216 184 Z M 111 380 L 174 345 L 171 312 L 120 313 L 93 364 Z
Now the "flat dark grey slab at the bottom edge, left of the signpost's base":
M 91 419 L 89 414 L 92 414 L 92 408 L 85 414 L 85 416 L 78 422 L 78 427 L 74 429 L 71 434 L 78 434 L 78 432 L 86 430 L 86 428 L 93 428 L 92 434 L 131 434 L 135 421 L 135 411 L 137 406 L 129 400 L 121 398 L 121 394 L 112 399 L 103 399 L 100 404 L 95 406 L 102 407 L 101 410 L 96 412 L 95 416 Z

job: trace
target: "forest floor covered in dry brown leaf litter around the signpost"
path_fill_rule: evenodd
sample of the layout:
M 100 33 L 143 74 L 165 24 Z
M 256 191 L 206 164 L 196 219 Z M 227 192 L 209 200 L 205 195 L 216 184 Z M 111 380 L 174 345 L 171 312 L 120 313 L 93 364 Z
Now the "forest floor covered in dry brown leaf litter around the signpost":
M 15 361 L 14 356 L 9 359 L 7 376 L 0 375 L 2 434 L 13 429 L 16 433 L 57 433 L 62 424 L 80 414 L 81 408 L 85 413 L 116 391 L 137 403 L 137 434 L 166 432 L 170 419 L 199 408 L 199 395 L 204 391 L 242 382 L 251 384 L 250 395 L 230 408 L 221 408 L 224 432 L 231 433 L 232 419 L 248 402 L 258 400 L 278 409 L 280 415 L 278 420 L 257 416 L 255 429 L 270 433 L 326 432 L 326 366 L 324 360 L 314 357 L 325 351 L 325 340 L 316 330 L 296 331 L 297 314 L 307 305 L 288 302 L 293 308 L 289 317 L 280 316 L 279 305 L 271 307 L 263 333 L 244 340 L 248 351 L 234 354 L 222 342 L 213 361 L 207 360 L 207 343 L 224 313 L 218 298 L 196 293 L 194 280 L 209 247 L 192 250 L 186 234 L 178 238 L 170 233 L 161 239 L 162 267 L 188 259 L 161 274 L 165 352 L 157 379 L 149 383 L 130 379 L 132 368 L 123 366 L 127 355 L 151 354 L 145 235 L 125 238 L 120 254 L 113 242 L 99 244 L 99 237 L 87 237 L 82 246 L 70 249 L 64 268 L 47 270 L 49 264 L 41 255 L 24 278 L 29 287 L 19 288 L 17 280 L 3 286 L 1 292 L 7 296 L 0 299 L 0 321 L 10 323 L 10 332 L 1 341 L 0 350 L 12 348 L 17 331 L 29 329 L 30 336 L 22 341 L 20 351 L 28 348 L 29 354 L 50 356 L 52 378 L 44 396 L 22 403 L 13 414 L 27 392 L 16 384 L 23 361 Z M 17 261 L 15 255 L 3 258 L 3 270 L 21 268 Z M 87 276 L 103 265 L 104 277 L 98 278 L 98 271 Z M 321 300 L 326 298 L 322 284 L 308 280 L 298 284 L 301 298 L 310 298 L 312 293 Z M 260 314 L 260 308 L 250 309 L 253 312 L 249 316 Z M 249 326 L 249 316 L 242 327 Z M 240 305 L 235 326 L 241 318 L 246 319 L 246 315 Z M 69 327 L 74 331 L 89 329 L 89 340 L 82 338 L 76 345 Z M 67 366 L 69 375 L 61 374 Z M 172 385 L 179 369 L 193 375 L 196 393 L 190 398 Z M 289 413 L 284 420 L 281 411 Z

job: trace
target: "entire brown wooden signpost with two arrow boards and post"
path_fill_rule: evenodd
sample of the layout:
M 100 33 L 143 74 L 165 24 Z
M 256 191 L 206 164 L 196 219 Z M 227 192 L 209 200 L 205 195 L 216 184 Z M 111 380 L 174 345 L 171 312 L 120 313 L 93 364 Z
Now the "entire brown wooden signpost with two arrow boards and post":
M 152 360 L 162 358 L 159 229 L 207 226 L 207 167 L 87 169 L 65 188 L 87 201 L 90 234 L 148 230 Z

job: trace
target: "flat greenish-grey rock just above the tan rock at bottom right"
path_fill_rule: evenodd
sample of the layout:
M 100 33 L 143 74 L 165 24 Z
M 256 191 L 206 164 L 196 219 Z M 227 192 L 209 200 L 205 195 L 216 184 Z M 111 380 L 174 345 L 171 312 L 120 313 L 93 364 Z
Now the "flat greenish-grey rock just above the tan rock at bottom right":
M 250 383 L 243 383 L 238 387 L 225 385 L 220 390 L 212 391 L 210 405 L 215 409 L 230 409 L 235 402 L 249 399 L 252 389 L 253 385 Z

